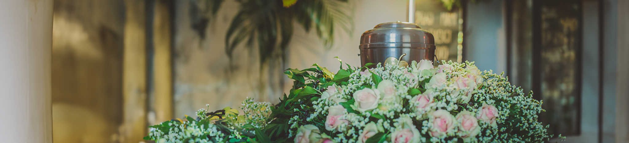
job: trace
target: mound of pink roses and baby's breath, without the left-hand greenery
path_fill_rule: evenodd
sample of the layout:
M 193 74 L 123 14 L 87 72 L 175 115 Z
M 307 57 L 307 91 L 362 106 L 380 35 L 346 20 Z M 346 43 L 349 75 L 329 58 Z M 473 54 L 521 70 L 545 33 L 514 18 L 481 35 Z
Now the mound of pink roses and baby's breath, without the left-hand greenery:
M 317 134 L 319 142 L 350 143 L 540 142 L 549 137 L 537 122 L 541 103 L 523 96 L 506 78 L 479 71 L 474 62 L 378 65 L 352 72 L 347 83 L 322 88 L 326 91 L 313 102 L 307 121 L 325 125 L 313 128 L 291 118 L 294 142 L 312 142 L 292 136 L 304 132 Z

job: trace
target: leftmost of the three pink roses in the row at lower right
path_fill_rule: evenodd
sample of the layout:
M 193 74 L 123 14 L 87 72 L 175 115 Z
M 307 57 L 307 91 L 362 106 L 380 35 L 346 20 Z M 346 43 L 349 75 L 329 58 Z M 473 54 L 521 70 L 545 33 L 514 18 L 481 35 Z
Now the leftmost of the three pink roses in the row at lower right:
M 450 112 L 438 109 L 432 112 L 431 115 L 432 127 L 430 133 L 433 137 L 443 137 L 447 132 L 453 131 L 457 121 L 455 121 L 454 116 Z

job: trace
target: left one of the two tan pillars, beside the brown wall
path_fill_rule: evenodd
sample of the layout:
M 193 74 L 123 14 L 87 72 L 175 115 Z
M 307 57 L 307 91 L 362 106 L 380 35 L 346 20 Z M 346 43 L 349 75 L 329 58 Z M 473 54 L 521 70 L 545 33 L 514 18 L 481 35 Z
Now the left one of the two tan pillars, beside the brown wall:
M 123 125 L 120 142 L 147 136 L 146 1 L 125 1 Z

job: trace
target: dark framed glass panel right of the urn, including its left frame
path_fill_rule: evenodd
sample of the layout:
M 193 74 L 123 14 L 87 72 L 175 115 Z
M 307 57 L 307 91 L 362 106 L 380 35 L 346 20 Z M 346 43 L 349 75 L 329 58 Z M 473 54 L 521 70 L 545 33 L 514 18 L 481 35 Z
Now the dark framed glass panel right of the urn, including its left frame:
M 580 134 L 580 1 L 510 1 L 509 79 L 543 100 L 555 137 Z

